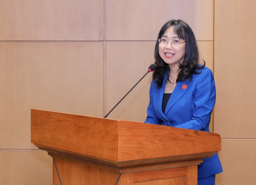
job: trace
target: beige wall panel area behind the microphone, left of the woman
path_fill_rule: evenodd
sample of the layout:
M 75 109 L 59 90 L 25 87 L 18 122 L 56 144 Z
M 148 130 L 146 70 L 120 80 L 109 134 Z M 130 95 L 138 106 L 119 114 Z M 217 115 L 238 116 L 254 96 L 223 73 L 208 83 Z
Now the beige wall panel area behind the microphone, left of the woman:
M 154 63 L 155 42 L 106 43 L 106 113 L 139 81 Z M 152 73 L 131 91 L 108 118 L 146 120 Z

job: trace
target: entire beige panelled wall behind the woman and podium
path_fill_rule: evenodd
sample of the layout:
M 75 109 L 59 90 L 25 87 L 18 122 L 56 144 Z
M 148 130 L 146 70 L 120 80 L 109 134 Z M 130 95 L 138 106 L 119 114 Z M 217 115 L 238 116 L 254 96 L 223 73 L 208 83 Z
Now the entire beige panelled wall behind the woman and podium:
M 192 27 L 201 57 L 214 71 L 213 123 L 222 136 L 224 168 L 216 184 L 256 180 L 251 86 L 256 24 L 248 24 L 255 17 L 254 0 L 0 0 L 0 5 L 0 184 L 51 184 L 52 159 L 30 143 L 30 109 L 104 117 L 154 62 L 158 31 L 172 18 Z M 143 122 L 150 81 L 148 74 L 108 118 Z

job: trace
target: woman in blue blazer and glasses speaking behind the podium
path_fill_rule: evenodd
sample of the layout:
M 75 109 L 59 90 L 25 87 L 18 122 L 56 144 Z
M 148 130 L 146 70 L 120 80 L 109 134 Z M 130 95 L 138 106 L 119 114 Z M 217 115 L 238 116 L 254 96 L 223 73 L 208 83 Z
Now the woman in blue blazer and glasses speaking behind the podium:
M 182 20 L 161 28 L 155 44 L 155 65 L 145 123 L 209 132 L 215 104 L 212 71 L 199 64 L 197 41 Z M 222 167 L 217 153 L 198 165 L 198 185 L 214 185 Z

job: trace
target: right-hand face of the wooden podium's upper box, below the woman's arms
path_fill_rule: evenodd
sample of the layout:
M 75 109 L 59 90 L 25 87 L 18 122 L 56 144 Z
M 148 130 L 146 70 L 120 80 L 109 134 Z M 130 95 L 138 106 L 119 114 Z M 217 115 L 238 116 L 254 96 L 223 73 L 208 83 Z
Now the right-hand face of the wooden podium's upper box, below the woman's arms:
M 119 121 L 119 161 L 217 152 L 216 133 Z

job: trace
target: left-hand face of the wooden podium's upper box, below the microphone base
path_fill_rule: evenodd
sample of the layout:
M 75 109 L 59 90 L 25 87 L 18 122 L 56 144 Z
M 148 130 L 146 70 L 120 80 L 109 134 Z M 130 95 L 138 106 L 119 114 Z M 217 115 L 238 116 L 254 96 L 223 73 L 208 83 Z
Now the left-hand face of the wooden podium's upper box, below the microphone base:
M 117 123 L 116 120 L 32 110 L 31 142 L 117 161 Z

